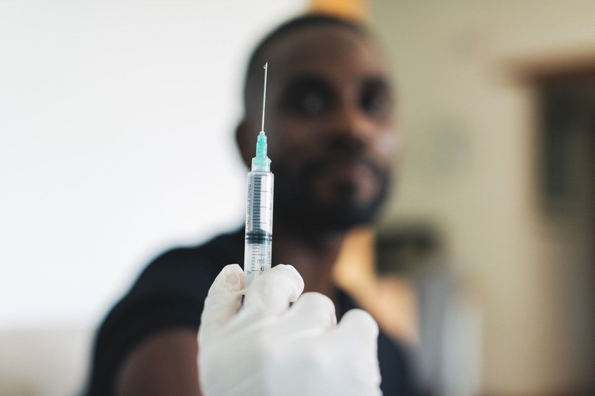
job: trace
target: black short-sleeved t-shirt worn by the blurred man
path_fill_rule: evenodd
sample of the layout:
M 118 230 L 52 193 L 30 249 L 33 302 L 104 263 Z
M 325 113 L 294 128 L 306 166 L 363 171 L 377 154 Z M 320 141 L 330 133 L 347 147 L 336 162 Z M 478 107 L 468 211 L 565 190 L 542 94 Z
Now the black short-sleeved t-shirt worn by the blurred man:
M 242 229 L 201 246 L 172 249 L 152 261 L 99 329 L 87 395 L 114 394 L 121 363 L 149 335 L 171 328 L 198 330 L 209 287 L 225 265 L 243 261 L 243 252 Z M 356 305 L 346 293 L 338 293 L 340 319 Z M 378 336 L 378 360 L 384 396 L 413 394 L 405 349 L 383 332 Z

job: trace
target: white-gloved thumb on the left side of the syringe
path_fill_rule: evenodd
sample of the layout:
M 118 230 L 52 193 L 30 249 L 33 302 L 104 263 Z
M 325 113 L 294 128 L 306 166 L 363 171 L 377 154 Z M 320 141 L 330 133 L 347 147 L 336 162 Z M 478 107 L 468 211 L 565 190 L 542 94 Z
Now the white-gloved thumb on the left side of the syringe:
M 239 311 L 245 287 L 244 271 L 237 264 L 223 267 L 209 289 L 201 315 L 199 340 L 221 329 Z

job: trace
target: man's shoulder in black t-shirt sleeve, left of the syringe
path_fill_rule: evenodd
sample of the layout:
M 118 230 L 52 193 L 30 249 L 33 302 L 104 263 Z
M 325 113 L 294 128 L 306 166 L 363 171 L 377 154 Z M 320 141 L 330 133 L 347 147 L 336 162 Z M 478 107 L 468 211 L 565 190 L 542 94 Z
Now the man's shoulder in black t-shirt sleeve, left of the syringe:
M 156 256 L 99 328 L 91 387 L 112 387 L 121 362 L 151 335 L 179 328 L 196 331 L 215 277 L 225 265 L 240 262 L 242 257 L 240 231 Z

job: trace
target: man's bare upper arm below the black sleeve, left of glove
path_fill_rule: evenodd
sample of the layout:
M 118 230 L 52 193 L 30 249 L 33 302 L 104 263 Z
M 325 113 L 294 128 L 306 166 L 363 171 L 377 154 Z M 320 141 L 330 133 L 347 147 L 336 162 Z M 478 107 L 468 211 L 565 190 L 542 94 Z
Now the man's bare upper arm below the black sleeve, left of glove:
M 172 329 L 147 338 L 124 360 L 118 396 L 201 396 L 196 332 Z

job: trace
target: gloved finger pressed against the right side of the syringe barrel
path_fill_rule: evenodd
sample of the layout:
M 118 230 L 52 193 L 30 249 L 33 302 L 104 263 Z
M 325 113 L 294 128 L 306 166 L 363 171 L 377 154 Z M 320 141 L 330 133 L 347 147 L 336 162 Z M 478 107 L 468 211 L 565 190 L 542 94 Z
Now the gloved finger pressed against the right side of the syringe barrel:
M 279 264 L 258 278 L 246 291 L 244 311 L 264 318 L 283 313 L 303 292 L 303 279 L 292 265 Z

